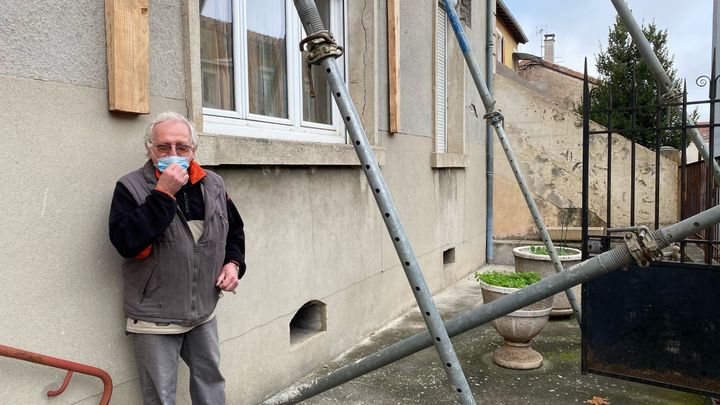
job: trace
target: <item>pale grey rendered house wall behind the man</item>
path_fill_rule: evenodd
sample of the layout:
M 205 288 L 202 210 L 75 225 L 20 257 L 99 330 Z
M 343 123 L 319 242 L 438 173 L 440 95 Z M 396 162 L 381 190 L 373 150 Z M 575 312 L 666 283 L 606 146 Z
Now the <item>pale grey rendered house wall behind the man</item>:
M 350 43 L 352 96 L 364 103 L 363 122 L 374 126 L 368 132 L 378 134 L 386 182 L 424 276 L 439 291 L 484 263 L 484 122 L 471 113 L 471 104 L 482 104 L 465 72 L 466 87 L 459 91 L 464 128 L 452 130 L 465 133 L 467 166 L 432 169 L 432 31 L 419 24 L 432 20 L 432 7 L 401 3 L 406 125 L 389 135 L 386 4 L 351 3 L 351 32 L 360 18 L 365 24 L 359 26 L 370 30 Z M 0 169 L 7 174 L 0 195 L 6 212 L 0 219 L 0 343 L 105 369 L 115 384 L 113 403 L 138 404 L 121 310 L 121 258 L 107 237 L 109 204 L 115 181 L 144 162 L 141 137 L 150 117 L 187 113 L 193 100 L 186 99 L 192 92 L 186 89 L 183 6 L 159 0 L 150 4 L 151 115 L 109 113 L 103 10 L 102 2 L 90 1 L 0 4 L 0 122 L 6 131 Z M 468 32 L 478 55 L 483 14 L 484 2 L 473 2 L 475 31 Z M 366 40 L 367 49 L 356 53 L 358 41 Z M 375 56 L 363 59 L 363 53 Z M 361 74 L 368 66 L 373 69 Z M 211 169 L 226 179 L 247 233 L 247 275 L 238 294 L 226 294 L 217 310 L 230 403 L 257 403 L 413 305 L 360 167 L 217 162 Z M 455 248 L 455 262 L 443 264 L 449 248 Z M 327 332 L 291 346 L 289 322 L 310 300 L 327 305 Z M 45 392 L 63 376 L 0 358 L 0 398 L 97 403 L 99 380 L 82 375 L 60 398 L 48 400 Z M 187 377 L 182 367 L 180 404 L 190 403 Z

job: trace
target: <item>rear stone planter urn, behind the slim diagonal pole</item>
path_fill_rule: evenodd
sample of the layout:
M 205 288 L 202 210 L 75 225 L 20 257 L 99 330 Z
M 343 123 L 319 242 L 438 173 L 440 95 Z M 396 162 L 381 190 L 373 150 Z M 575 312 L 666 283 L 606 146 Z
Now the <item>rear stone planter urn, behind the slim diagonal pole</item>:
M 544 246 L 539 246 L 544 248 Z M 555 274 L 555 267 L 553 267 L 550 256 L 546 254 L 535 254 L 530 251 L 530 246 L 520 246 L 513 249 L 513 256 L 515 256 L 515 271 L 518 273 L 527 273 L 534 271 L 540 274 L 540 277 L 546 278 Z M 560 254 L 560 248 L 556 248 L 560 263 L 563 265 L 563 269 L 569 269 L 570 267 L 580 263 L 582 261 L 582 252 L 578 249 L 563 247 L 562 250 L 565 254 Z M 580 303 L 580 294 L 582 288 L 580 285 L 576 285 L 572 288 L 575 292 L 575 298 Z M 567 299 L 565 292 L 557 293 L 553 296 L 553 307 L 550 312 L 550 316 L 569 316 L 572 315 L 572 307 L 570 301 Z

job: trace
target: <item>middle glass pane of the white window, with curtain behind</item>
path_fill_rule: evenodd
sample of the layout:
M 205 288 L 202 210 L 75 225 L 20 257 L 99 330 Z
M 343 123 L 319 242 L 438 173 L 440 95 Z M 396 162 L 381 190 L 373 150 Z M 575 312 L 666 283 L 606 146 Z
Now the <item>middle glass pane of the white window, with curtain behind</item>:
M 248 101 L 253 114 L 288 117 L 284 0 L 248 0 Z

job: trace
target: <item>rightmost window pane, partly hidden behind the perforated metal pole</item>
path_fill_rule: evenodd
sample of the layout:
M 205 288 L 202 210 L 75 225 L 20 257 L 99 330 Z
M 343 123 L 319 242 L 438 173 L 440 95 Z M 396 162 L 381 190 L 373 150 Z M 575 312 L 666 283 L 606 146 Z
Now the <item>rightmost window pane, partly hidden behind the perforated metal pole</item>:
M 315 2 L 320 12 L 320 18 L 326 29 L 330 28 L 330 0 L 317 0 Z M 315 97 L 310 94 L 310 81 L 307 74 L 307 63 L 303 62 L 303 119 L 305 121 L 332 124 L 332 100 L 327 79 L 322 74 L 322 69 L 313 67 L 312 80 L 315 90 Z

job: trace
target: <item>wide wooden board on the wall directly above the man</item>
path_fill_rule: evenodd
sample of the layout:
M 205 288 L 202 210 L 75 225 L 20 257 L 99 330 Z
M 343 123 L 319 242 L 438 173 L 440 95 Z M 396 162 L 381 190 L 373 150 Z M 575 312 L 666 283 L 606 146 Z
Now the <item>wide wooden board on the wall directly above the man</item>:
M 105 0 L 110 111 L 150 113 L 148 0 Z

